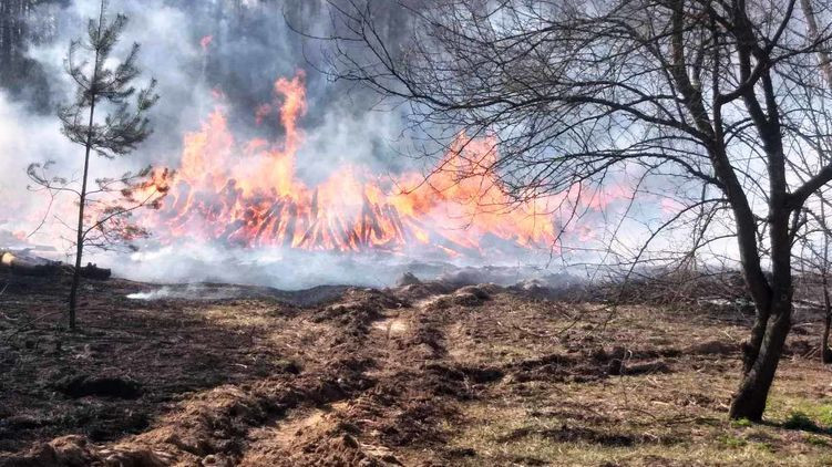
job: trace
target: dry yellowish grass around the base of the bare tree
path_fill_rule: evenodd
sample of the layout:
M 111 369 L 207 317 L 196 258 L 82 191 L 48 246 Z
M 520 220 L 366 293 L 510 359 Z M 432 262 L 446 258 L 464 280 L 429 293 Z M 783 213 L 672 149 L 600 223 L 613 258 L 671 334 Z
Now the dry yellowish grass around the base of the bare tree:
M 618 344 L 636 353 L 664 349 L 674 355 L 667 352 L 674 347 L 682 352 L 662 359 L 671 370 L 660 374 L 563 382 L 509 378 L 466 404 L 462 423 L 443 425 L 454 465 L 832 465 L 832 386 L 829 370 L 818 362 L 801 357 L 782 362 L 764 424 L 729 422 L 737 355 L 689 351 L 713 336 L 736 340 L 743 335 L 742 326 L 719 316 L 633 307 L 619 309 L 602 330 L 592 324 L 604 312 L 584 312 L 584 323 L 574 335 L 557 339 L 545 346 L 547 352 L 569 347 L 574 340 L 586 345 Z M 490 319 L 480 314 L 476 326 L 487 328 Z M 553 321 L 558 320 L 535 329 L 544 333 L 556 329 Z M 523 342 L 517 349 L 497 342 L 479 356 L 502 356 L 507 363 L 532 347 L 540 352 L 543 341 Z

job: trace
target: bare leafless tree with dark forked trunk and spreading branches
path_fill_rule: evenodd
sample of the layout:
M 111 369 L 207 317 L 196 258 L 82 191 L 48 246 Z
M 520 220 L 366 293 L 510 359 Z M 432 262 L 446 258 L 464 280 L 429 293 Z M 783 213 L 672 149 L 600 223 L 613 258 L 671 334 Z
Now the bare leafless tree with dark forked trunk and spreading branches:
M 818 151 L 830 133 L 807 124 L 832 102 L 832 3 L 807 1 L 813 25 L 797 0 L 400 0 L 408 37 L 393 42 L 377 21 L 389 2 L 330 0 L 333 34 L 297 29 L 323 40 L 325 71 L 408 102 L 436 141 L 493 136 L 486 169 L 517 199 L 633 167 L 685 187 L 670 220 L 737 241 L 756 318 L 730 416 L 759 421 L 791 326 L 801 214 L 832 179 Z

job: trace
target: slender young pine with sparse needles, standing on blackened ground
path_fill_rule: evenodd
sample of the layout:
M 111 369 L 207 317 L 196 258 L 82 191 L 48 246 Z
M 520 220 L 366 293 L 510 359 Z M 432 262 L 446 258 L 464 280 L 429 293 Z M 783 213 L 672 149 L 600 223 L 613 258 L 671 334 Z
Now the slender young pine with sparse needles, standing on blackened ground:
M 126 58 L 114 63 L 111 54 L 126 25 L 127 18 L 116 14 L 106 19 L 106 0 L 102 0 L 97 19 L 91 19 L 85 41 L 73 41 L 66 58 L 66 72 L 76 85 L 73 103 L 59 108 L 63 134 L 84 148 L 81 179 L 75 187 L 63 177 L 50 176 L 52 163 L 32 164 L 29 177 L 50 193 L 71 193 L 78 197 L 78 224 L 74 238 L 75 268 L 69 297 L 69 326 L 75 329 L 75 309 L 81 280 L 81 261 L 84 247 L 106 248 L 114 241 L 144 235 L 144 230 L 129 221 L 135 209 L 157 206 L 166 191 L 166 173 L 153 173 L 150 168 L 137 174 L 127 173 L 115 178 L 100 178 L 96 189 L 88 186 L 90 156 L 104 158 L 130 154 L 151 134 L 147 111 L 158 96 L 154 94 L 155 81 L 141 91 L 132 86 L 140 75 L 135 65 L 138 44 L 133 44 Z M 88 52 L 89 59 L 79 60 L 79 51 Z M 134 106 L 129 100 L 135 97 Z M 96 110 L 109 111 L 96 120 Z M 110 195 L 96 199 L 95 195 Z M 113 197 L 112 195 L 116 195 Z

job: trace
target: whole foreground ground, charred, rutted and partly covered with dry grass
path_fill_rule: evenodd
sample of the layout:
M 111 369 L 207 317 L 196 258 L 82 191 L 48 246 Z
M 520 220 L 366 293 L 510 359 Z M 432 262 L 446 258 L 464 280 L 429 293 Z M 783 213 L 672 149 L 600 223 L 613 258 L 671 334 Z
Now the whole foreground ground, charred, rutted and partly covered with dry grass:
M 832 464 L 816 316 L 753 425 L 726 419 L 749 325 L 732 310 L 110 280 L 69 333 L 65 289 L 0 295 L 0 466 Z

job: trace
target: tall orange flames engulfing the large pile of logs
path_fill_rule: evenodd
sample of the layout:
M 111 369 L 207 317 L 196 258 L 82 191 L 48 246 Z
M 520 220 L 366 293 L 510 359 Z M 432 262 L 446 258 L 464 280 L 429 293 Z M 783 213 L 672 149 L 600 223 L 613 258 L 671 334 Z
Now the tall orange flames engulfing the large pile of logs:
M 383 179 L 345 166 L 308 186 L 296 176 L 304 74 L 277 80 L 274 92 L 255 116 L 279 117 L 285 135 L 278 143 L 237 141 L 220 106 L 185 135 L 181 167 L 151 219 L 154 232 L 240 247 L 394 252 L 421 246 L 451 256 L 482 256 L 485 239 L 553 246 L 555 197 L 513 204 L 490 170 L 499 157 L 492 137 L 458 135 L 427 183 L 418 173 Z

